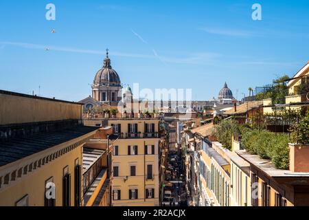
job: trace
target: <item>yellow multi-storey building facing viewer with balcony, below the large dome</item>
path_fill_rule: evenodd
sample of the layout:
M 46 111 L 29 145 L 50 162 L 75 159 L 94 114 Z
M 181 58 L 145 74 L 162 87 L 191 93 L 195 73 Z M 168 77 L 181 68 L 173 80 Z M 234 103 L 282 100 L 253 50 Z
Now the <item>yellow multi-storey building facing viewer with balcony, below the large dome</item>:
M 115 139 L 113 206 L 159 206 L 159 120 L 111 118 L 108 126 Z

